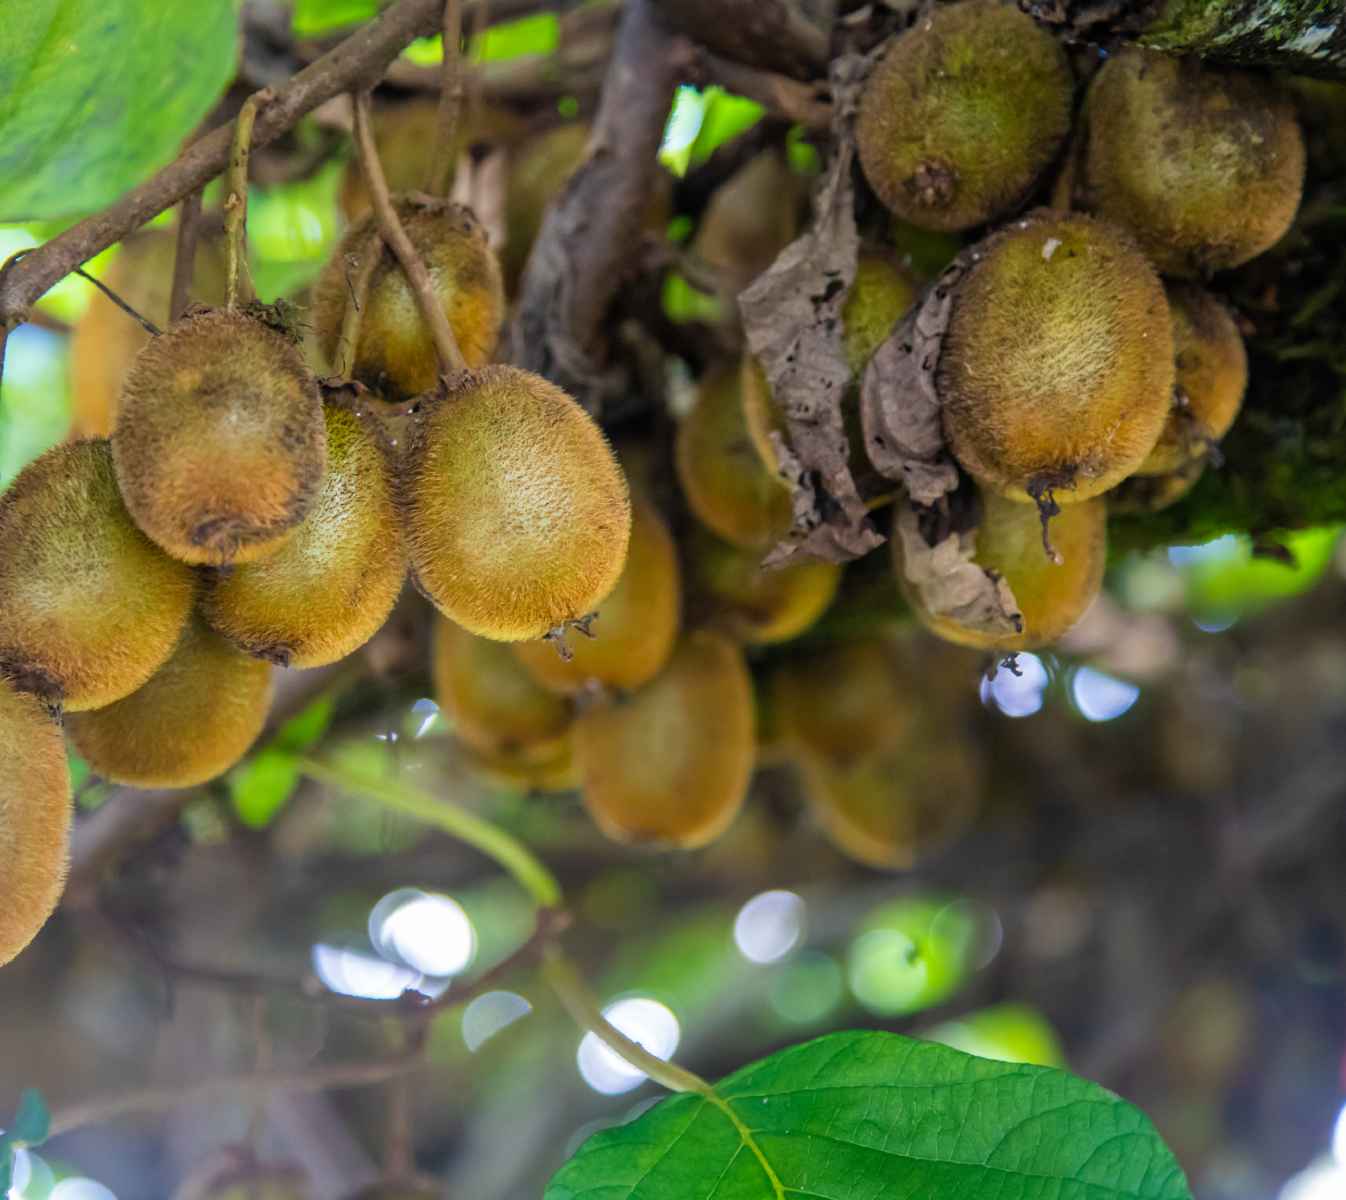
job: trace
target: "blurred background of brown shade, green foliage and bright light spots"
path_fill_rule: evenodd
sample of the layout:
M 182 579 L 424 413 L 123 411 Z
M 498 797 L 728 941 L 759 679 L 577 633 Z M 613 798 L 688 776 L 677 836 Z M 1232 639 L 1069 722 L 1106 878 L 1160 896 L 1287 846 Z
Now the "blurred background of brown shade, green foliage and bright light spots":
M 339 8 L 249 5 L 238 94 L 367 15 Z M 284 52 L 267 40 L 277 22 Z M 541 13 L 481 34 L 487 94 L 575 51 L 575 30 L 590 26 L 565 40 Z M 404 57 L 394 100 L 437 54 Z M 563 59 L 530 96 L 528 136 L 592 110 L 600 73 Z M 686 253 L 651 278 L 668 340 L 686 343 L 674 396 L 708 346 L 732 343 L 732 308 L 697 268 L 751 278 L 793 234 L 777 219 L 754 245 L 750 222 L 725 241 L 756 261 L 717 261 L 696 188 L 719 148 L 774 120 L 721 87 L 682 89 L 670 117 L 661 229 Z M 817 155 L 798 126 L 782 144 L 802 196 Z M 341 120 L 306 121 L 257 176 L 257 291 L 302 304 L 349 211 Z M 0 226 L 0 258 L 59 227 Z M 147 287 L 136 303 L 152 308 L 171 256 L 149 252 L 171 234 L 166 217 L 89 269 Z M 97 432 L 133 334 L 70 278 L 11 335 L 0 487 L 73 429 Z M 919 631 L 886 557 L 847 568 L 801 639 L 750 651 L 759 767 L 732 829 L 697 852 L 619 846 L 573 794 L 483 774 L 440 713 L 411 591 L 347 663 L 281 673 L 268 732 L 227 778 L 137 796 L 74 760 L 71 903 L 0 971 L 0 1123 L 34 1087 L 63 1130 L 22 1156 L 12 1200 L 206 1195 L 190 1188 L 254 1161 L 345 1196 L 409 1158 L 431 1195 L 537 1196 L 588 1134 L 658 1099 L 514 957 L 533 916 L 499 868 L 302 779 L 293 755 L 315 748 L 526 842 L 564 885 L 567 944 L 614 1024 L 707 1078 L 829 1030 L 890 1029 L 1097 1079 L 1154 1118 L 1203 1200 L 1346 1196 L 1346 546 L 1320 527 L 1265 549 L 1232 534 L 1114 553 L 1065 643 L 989 674 Z M 856 647 L 899 704 L 941 714 L 905 784 L 903 869 L 867 865 L 779 737 L 800 691 L 782 674 L 812 662 L 844 691 Z M 466 1006 L 400 1000 L 506 959 Z M 427 1067 L 408 1082 L 393 1068 L 417 1037 Z M 252 1071 L 273 1086 L 201 1086 Z M 143 1111 L 104 1119 L 104 1099 L 141 1094 Z

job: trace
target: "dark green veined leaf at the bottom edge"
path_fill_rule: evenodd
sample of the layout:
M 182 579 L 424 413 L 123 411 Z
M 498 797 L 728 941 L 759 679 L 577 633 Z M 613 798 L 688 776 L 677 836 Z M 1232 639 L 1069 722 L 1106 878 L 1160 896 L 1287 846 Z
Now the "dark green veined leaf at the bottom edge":
M 1094 1083 L 894 1033 L 833 1033 L 595 1134 L 545 1200 L 1190 1200 Z

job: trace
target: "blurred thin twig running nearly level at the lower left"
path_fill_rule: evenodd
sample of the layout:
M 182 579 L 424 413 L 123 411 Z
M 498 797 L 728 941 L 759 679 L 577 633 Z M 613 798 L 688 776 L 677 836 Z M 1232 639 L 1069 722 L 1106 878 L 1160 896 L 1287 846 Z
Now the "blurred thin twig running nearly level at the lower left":
M 164 1084 L 121 1090 L 58 1109 L 51 1114 L 51 1137 L 70 1133 L 85 1125 L 102 1125 L 132 1113 L 160 1113 L 188 1100 L 202 1100 L 230 1092 L 326 1091 L 330 1087 L 367 1087 L 385 1083 L 423 1065 L 420 1053 L 397 1055 L 366 1063 L 335 1063 L 300 1071 L 250 1071 L 246 1075 L 222 1075 L 197 1083 Z

